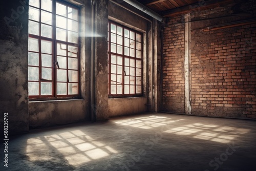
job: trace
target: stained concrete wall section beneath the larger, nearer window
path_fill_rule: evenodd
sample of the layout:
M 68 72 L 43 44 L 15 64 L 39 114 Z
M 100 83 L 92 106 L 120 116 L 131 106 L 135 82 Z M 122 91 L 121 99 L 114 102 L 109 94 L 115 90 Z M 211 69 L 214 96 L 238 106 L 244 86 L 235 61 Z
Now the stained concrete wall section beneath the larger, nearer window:
M 56 100 L 29 102 L 29 126 L 53 126 L 83 121 L 86 117 L 85 100 Z

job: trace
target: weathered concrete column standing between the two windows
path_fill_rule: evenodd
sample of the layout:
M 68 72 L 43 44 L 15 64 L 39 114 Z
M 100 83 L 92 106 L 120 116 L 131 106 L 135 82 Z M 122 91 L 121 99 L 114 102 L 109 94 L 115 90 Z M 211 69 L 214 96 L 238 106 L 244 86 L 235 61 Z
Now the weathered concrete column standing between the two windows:
M 108 0 L 95 1 L 95 99 L 96 120 L 109 117 L 108 109 Z

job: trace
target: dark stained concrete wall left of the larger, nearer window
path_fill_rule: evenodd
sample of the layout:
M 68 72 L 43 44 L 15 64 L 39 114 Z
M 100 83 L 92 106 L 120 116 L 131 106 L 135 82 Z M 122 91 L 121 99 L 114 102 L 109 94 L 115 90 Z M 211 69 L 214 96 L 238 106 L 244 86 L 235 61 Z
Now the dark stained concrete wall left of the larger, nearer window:
M 15 0 L 0 4 L 0 121 L 8 113 L 9 135 L 29 129 L 26 3 Z

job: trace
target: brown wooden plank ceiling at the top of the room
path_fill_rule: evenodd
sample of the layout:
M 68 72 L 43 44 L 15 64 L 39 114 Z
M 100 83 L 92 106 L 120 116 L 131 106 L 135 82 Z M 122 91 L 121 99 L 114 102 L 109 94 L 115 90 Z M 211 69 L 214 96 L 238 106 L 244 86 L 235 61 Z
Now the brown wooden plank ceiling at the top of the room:
M 178 16 L 191 10 L 209 9 L 241 0 L 137 0 L 162 16 Z

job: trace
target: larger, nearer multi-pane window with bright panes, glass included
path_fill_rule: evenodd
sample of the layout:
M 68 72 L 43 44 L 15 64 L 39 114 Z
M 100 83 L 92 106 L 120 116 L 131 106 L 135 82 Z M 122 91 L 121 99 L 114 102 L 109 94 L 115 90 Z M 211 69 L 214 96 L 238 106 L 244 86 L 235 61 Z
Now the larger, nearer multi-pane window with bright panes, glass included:
M 78 16 L 71 4 L 29 1 L 30 98 L 79 96 Z

